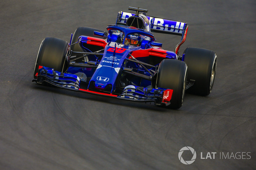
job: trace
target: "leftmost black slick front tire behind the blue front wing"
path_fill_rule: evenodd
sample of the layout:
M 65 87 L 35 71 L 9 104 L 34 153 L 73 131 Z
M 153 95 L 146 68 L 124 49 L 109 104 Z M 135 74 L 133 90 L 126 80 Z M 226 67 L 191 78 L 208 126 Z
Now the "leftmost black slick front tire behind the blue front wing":
M 68 42 L 47 37 L 45 38 L 38 51 L 36 65 L 34 70 L 34 78 L 39 66 L 53 68 L 55 71 L 65 72 L 68 69 Z

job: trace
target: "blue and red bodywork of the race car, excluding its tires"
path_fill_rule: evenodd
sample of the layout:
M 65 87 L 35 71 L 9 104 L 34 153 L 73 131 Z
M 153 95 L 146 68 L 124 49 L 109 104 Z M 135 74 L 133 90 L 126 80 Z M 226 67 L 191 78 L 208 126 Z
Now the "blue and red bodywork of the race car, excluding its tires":
M 150 30 L 177 33 L 183 37 L 187 28 L 186 23 L 147 17 L 149 23 L 145 22 L 145 29 L 124 26 L 127 17 L 134 15 L 120 11 L 116 25 L 107 27 L 108 35 L 105 41 L 80 36 L 77 43 L 83 49 L 84 55 L 88 57 L 87 61 L 70 62 L 64 73 L 40 66 L 37 78 L 33 81 L 39 84 L 49 83 L 69 90 L 168 105 L 171 98 L 166 99 L 168 97 L 166 94 L 169 94 L 171 90 L 155 87 L 155 73 L 161 60 L 178 59 L 178 55 L 177 52 L 163 50 L 162 44 L 155 42 L 156 38 Z M 143 16 L 141 15 L 140 18 Z M 137 46 L 127 43 L 126 40 L 126 37 L 134 34 L 140 37 Z M 103 36 L 104 33 L 95 32 L 95 35 Z M 92 41 L 96 43 L 93 44 Z M 86 44 L 97 46 L 98 41 L 99 44 L 103 44 L 104 52 L 94 55 L 94 51 L 85 46 Z M 68 51 L 66 56 L 68 60 L 72 53 L 75 52 Z M 79 64 L 81 67 L 78 67 Z

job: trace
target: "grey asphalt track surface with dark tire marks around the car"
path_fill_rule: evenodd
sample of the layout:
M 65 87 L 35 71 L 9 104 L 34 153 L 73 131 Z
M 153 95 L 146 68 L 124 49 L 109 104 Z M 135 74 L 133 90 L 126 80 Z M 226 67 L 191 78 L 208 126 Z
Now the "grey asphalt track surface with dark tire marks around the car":
M 183 106 L 171 110 L 31 82 L 45 37 L 69 41 L 79 26 L 105 30 L 129 6 L 188 22 L 181 54 L 186 47 L 216 52 L 209 96 L 186 94 Z M 10 0 L 0 9 L 1 170 L 256 169 L 254 0 Z M 179 42 L 155 36 L 164 49 Z M 178 158 L 185 146 L 197 154 L 190 165 Z M 212 159 L 201 159 L 208 152 Z

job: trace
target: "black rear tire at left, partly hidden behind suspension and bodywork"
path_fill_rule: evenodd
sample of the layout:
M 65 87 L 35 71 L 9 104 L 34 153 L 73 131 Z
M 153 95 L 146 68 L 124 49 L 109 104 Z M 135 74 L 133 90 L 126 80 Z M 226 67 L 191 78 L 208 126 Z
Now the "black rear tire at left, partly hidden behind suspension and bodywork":
M 106 36 L 108 35 L 108 33 L 105 32 L 105 31 L 102 31 L 102 30 L 99 30 L 99 29 L 96 29 L 96 28 L 90 28 L 90 27 L 83 27 L 83 26 L 81 26 L 81 27 L 78 27 L 78 28 L 76 29 L 76 31 L 75 31 L 75 33 L 74 33 L 74 35 L 73 35 L 73 37 L 72 37 L 71 44 L 76 43 L 77 40 L 78 40 L 78 37 L 80 37 L 81 35 L 85 35 L 85 36 L 89 36 L 89 37 L 95 37 L 95 38 L 102 38 L 102 39 L 106 39 L 106 38 L 107 38 L 107 37 L 100 37 L 100 36 L 97 36 L 97 35 L 93 35 L 93 32 L 94 32 L 94 31 L 98 31 L 98 32 L 104 33 Z M 94 45 L 90 45 L 90 44 L 86 44 L 86 45 L 85 45 L 85 48 L 88 49 L 86 52 L 95 52 L 95 51 L 98 51 L 98 50 L 100 50 L 100 49 L 103 49 L 102 47 L 94 46 Z M 84 52 L 84 51 L 80 48 L 79 43 L 76 43 L 76 44 L 74 44 L 74 45 L 71 45 L 71 46 L 70 46 L 70 50 L 76 51 L 76 52 Z M 80 56 L 83 56 L 83 54 L 75 54 L 75 53 L 74 53 L 74 54 L 71 54 L 71 56 L 73 56 L 73 55 L 76 55 L 76 58 L 77 58 L 77 57 L 80 57 Z M 84 60 L 86 60 L 86 59 L 84 58 Z M 80 60 L 78 59 L 78 60 L 76 60 L 76 62 L 81 63 L 82 60 L 81 60 L 81 59 L 80 59 Z

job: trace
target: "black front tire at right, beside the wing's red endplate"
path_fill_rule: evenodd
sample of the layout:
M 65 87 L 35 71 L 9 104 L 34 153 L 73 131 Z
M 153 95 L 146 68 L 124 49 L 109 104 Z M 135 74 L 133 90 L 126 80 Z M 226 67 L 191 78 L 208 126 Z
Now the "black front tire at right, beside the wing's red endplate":
M 158 68 L 156 87 L 173 90 L 171 104 L 167 107 L 178 109 L 182 106 L 186 82 L 187 65 L 185 62 L 174 59 L 162 60 Z

